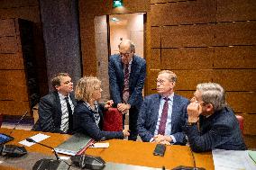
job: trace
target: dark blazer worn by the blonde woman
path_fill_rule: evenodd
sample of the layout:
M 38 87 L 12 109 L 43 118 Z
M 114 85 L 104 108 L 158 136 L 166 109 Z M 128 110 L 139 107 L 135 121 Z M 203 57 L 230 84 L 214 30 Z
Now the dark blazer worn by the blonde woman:
M 94 112 L 89 110 L 87 106 L 78 101 L 73 117 L 74 131 L 84 133 L 95 140 L 105 139 L 123 139 L 123 131 L 103 131 L 103 111 L 104 105 L 99 104 L 100 122 L 99 127 L 96 125 Z

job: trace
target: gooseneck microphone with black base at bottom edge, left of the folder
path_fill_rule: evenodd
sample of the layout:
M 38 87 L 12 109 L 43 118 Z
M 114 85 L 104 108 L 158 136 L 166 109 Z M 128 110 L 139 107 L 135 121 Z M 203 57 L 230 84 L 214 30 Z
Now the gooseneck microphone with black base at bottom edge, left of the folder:
M 51 148 L 33 139 L 26 139 L 26 140 L 29 142 L 37 143 L 46 148 Z M 32 166 L 32 170 L 66 170 L 66 169 L 68 170 L 69 169 L 70 165 L 65 161 L 59 160 L 59 156 L 56 150 L 54 148 L 51 148 L 51 149 L 54 151 L 54 155 L 57 160 L 47 159 L 47 158 L 40 159 L 34 164 L 34 166 Z

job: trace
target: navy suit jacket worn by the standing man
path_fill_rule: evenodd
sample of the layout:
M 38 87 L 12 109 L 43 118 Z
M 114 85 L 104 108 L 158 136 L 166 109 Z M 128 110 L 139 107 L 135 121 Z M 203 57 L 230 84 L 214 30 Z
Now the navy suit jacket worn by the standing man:
M 114 103 L 122 103 L 123 99 L 123 63 L 120 55 L 114 54 L 109 58 L 108 76 L 110 95 Z M 146 77 L 146 61 L 136 55 L 133 56 L 129 77 L 130 97 L 128 103 L 137 109 L 142 105 L 142 89 Z

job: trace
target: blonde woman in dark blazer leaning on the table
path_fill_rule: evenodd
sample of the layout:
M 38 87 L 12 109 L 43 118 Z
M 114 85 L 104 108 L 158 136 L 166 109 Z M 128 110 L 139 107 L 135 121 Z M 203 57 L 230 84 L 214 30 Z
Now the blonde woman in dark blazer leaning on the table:
M 78 103 L 74 110 L 74 130 L 95 140 L 123 139 L 130 135 L 128 130 L 103 131 L 103 112 L 113 101 L 98 103 L 101 98 L 101 81 L 95 76 L 84 76 L 78 80 L 75 97 Z

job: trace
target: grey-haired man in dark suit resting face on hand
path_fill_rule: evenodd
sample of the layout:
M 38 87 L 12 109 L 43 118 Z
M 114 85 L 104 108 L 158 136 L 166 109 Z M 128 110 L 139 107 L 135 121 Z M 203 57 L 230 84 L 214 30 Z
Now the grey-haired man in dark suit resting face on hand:
M 198 84 L 187 106 L 187 114 L 188 121 L 184 130 L 193 151 L 246 149 L 239 123 L 232 109 L 225 103 L 224 88 L 221 85 Z

